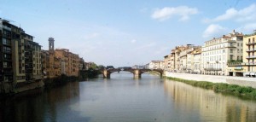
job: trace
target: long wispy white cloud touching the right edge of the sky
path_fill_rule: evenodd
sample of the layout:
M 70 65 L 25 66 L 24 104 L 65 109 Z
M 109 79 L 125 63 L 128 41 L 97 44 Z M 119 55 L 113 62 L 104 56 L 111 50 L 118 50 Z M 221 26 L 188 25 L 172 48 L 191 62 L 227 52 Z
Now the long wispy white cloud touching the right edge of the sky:
M 256 20 L 256 4 L 251 4 L 244 9 L 227 9 L 223 15 L 218 15 L 213 19 L 205 19 L 204 22 L 217 22 L 222 20 L 236 20 L 238 22 Z

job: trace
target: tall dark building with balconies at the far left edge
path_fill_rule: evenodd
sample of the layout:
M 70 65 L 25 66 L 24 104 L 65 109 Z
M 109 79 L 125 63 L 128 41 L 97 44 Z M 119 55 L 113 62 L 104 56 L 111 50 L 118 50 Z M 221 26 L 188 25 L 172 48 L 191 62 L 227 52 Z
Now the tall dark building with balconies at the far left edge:
M 22 28 L 0 19 L 0 92 L 20 92 L 42 83 L 41 45 Z

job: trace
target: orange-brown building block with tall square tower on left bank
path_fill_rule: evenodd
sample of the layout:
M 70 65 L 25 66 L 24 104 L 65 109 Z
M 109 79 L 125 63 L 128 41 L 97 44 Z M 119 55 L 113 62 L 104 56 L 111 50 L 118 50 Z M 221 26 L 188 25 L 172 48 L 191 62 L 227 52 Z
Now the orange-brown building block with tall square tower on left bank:
M 42 66 L 47 78 L 54 78 L 65 74 L 79 76 L 79 55 L 69 49 L 55 49 L 54 38 L 49 38 L 49 50 L 42 51 Z

